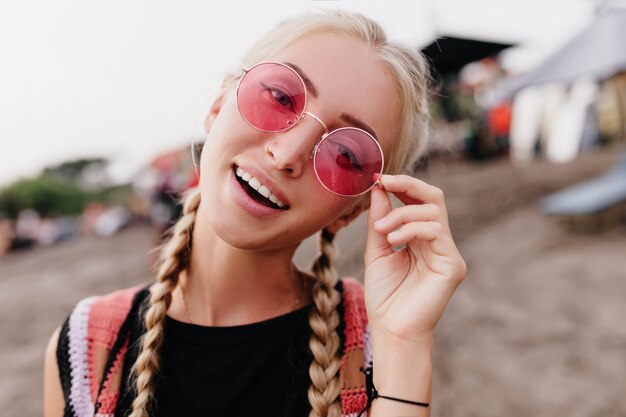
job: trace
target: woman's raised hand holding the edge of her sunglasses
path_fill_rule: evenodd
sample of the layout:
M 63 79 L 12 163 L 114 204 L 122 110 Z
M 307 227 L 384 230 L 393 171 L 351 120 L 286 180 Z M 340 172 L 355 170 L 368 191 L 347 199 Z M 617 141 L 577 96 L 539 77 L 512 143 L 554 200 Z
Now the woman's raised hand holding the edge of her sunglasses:
M 407 175 L 382 175 L 380 182 L 384 190 L 372 190 L 365 250 L 370 327 L 386 339 L 421 343 L 431 340 L 467 268 L 440 189 Z M 392 209 L 387 193 L 405 205 Z

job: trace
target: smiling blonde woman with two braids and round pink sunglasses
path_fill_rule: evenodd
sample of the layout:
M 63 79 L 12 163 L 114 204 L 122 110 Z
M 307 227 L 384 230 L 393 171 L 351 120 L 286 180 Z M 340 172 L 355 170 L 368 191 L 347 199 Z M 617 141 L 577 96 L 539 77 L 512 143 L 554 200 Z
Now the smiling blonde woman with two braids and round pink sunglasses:
M 426 81 L 357 14 L 257 42 L 206 117 L 157 282 L 81 301 L 53 335 L 46 415 L 429 415 L 432 334 L 466 267 L 442 192 L 389 175 L 424 149 Z M 332 241 L 367 208 L 363 288 Z M 319 231 L 310 276 L 292 258 Z

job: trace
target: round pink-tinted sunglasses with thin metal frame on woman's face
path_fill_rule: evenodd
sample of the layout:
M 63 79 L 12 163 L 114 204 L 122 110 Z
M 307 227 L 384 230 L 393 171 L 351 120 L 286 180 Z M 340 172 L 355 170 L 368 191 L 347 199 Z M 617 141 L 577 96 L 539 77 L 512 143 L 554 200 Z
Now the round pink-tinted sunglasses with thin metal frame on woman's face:
M 305 115 L 317 120 L 326 133 L 311 152 L 318 180 L 331 193 L 356 197 L 368 192 L 383 171 L 383 151 L 368 132 L 356 127 L 329 131 L 306 111 L 304 80 L 289 65 L 263 62 L 245 70 L 237 86 L 237 107 L 243 119 L 263 132 L 283 132 Z

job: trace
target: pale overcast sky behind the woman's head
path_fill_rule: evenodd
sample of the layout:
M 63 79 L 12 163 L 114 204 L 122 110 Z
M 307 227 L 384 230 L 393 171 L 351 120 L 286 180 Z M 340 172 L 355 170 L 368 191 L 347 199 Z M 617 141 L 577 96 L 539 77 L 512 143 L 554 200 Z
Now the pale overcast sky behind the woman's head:
M 520 42 L 527 62 L 593 16 L 591 0 L 3 1 L 0 186 L 90 156 L 124 176 L 201 139 L 221 75 L 247 46 L 287 16 L 335 7 L 415 47 L 437 34 Z

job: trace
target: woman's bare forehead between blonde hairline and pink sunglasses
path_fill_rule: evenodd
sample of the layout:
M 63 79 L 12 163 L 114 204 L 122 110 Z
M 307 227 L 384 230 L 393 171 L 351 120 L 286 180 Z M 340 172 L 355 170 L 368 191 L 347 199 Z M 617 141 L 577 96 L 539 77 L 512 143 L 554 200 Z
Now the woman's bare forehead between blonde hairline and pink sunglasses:
M 389 148 L 400 116 L 400 99 L 387 66 L 363 42 L 317 33 L 296 40 L 272 58 L 295 64 L 314 84 L 307 110 L 328 123 L 349 114 L 374 129 Z M 345 124 L 345 123 L 344 123 Z

